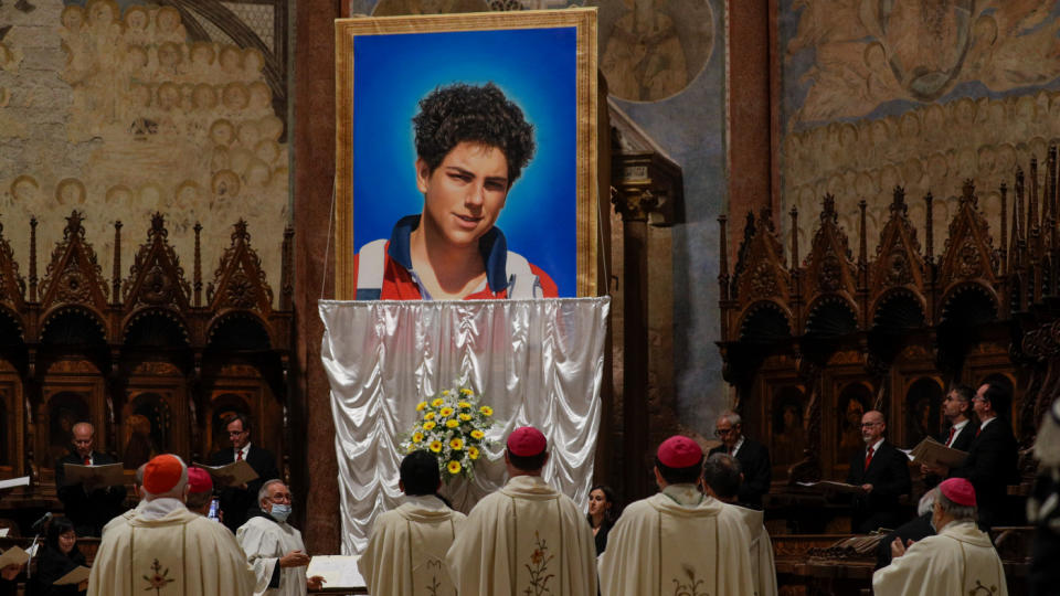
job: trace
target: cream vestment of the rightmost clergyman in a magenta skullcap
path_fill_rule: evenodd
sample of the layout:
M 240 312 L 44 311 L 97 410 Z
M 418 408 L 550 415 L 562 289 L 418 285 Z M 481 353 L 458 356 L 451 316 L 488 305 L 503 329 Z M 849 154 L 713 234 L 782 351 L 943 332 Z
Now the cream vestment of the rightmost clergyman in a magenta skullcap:
M 1005 567 L 990 538 L 974 522 L 947 523 L 872 574 L 878 596 L 971 594 L 1007 596 Z

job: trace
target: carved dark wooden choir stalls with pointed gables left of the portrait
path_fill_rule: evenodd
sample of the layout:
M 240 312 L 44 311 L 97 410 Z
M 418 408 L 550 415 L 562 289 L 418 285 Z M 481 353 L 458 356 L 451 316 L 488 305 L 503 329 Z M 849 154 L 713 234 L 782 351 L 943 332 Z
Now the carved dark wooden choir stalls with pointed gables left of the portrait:
M 156 453 L 201 460 L 219 447 L 215 406 L 230 394 L 245 396 L 245 407 L 235 409 L 258 423 L 252 440 L 286 461 L 293 232 L 283 238 L 278 305 L 243 221 L 233 226 L 204 301 L 201 226 L 189 281 L 160 214 L 121 277 L 117 222 L 108 280 L 85 238 L 84 217 L 78 211 L 67 217 L 40 281 L 36 221 L 28 279 L 0 227 L 0 477 L 31 475 L 26 502 L 53 497 L 53 462 L 78 421 L 92 422 L 96 448 L 129 469 Z

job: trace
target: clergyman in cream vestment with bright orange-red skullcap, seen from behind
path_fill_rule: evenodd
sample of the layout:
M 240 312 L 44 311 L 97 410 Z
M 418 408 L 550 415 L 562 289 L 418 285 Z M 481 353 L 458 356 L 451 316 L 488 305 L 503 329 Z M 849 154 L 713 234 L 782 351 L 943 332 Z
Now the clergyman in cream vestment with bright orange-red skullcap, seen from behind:
M 88 576 L 89 596 L 233 596 L 254 572 L 223 525 L 184 507 L 188 467 L 174 455 L 144 470 L 140 511 L 107 531 Z

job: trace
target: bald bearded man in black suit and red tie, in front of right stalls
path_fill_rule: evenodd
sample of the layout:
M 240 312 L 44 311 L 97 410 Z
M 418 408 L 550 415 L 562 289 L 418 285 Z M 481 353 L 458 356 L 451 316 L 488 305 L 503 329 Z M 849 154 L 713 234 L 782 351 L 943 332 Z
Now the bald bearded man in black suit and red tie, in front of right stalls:
M 879 528 L 898 528 L 902 519 L 899 499 L 909 494 L 909 458 L 883 438 L 887 421 L 883 414 L 870 409 L 861 416 L 861 439 L 866 450 L 850 458 L 847 483 L 861 487 L 854 496 L 850 526 L 866 534 Z

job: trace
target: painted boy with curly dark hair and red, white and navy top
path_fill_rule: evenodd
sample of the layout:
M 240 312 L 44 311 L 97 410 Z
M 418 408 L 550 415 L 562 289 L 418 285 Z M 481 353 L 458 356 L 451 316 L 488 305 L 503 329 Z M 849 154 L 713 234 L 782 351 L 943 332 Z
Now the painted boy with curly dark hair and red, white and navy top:
M 496 85 L 454 84 L 420 100 L 423 212 L 357 255 L 359 300 L 553 298 L 555 283 L 508 251 L 494 224 L 533 156 L 533 126 Z

